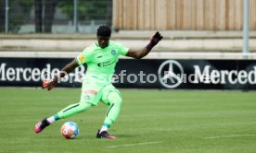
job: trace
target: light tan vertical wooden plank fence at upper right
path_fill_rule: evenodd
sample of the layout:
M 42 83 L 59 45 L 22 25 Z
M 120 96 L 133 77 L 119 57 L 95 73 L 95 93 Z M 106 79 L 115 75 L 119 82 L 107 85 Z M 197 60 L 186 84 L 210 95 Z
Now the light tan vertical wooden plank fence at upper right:
M 240 30 L 244 0 L 113 0 L 114 29 Z M 250 0 L 256 29 L 256 0 Z

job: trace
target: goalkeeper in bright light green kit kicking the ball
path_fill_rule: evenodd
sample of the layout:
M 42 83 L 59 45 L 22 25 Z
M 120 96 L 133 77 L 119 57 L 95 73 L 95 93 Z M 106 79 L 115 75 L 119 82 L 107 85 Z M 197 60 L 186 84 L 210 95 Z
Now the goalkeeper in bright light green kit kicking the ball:
M 35 133 L 40 133 L 46 126 L 53 124 L 59 119 L 70 117 L 78 112 L 87 111 L 90 107 L 96 106 L 98 101 L 102 101 L 109 106 L 109 110 L 96 137 L 116 138 L 114 135 L 109 135 L 108 129 L 117 120 L 122 106 L 121 93 L 111 84 L 111 78 L 118 57 L 119 55 L 124 55 L 135 59 L 143 58 L 162 39 L 162 36 L 159 32 L 156 32 L 147 46 L 140 50 L 129 49 L 117 41 L 109 41 L 110 36 L 111 29 L 108 26 L 100 26 L 97 29 L 97 41 L 94 44 L 85 48 L 83 53 L 79 54 L 70 64 L 65 65 L 58 76 L 46 79 L 43 82 L 43 88 L 50 90 L 57 85 L 59 78 L 69 74 L 79 65 L 87 65 L 79 103 L 71 104 L 53 116 L 35 124 Z

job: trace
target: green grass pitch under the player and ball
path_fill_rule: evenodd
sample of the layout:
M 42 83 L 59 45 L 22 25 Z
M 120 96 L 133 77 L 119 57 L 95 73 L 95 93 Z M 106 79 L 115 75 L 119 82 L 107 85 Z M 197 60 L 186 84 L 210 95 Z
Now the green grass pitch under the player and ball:
M 123 105 L 110 134 L 96 139 L 107 107 L 102 103 L 52 124 L 33 125 L 80 99 L 80 88 L 0 88 L 0 152 L 19 153 L 207 153 L 256 151 L 256 92 L 121 89 Z M 60 135 L 73 121 L 74 140 Z

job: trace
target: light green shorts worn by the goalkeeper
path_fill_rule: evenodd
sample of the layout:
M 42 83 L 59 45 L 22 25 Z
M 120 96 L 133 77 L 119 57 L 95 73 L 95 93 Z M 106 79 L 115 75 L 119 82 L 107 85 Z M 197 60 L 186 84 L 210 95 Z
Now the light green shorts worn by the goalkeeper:
M 112 84 L 100 85 L 96 83 L 83 82 L 80 102 L 91 103 L 96 106 L 98 101 L 110 105 L 108 96 L 110 92 L 116 92 L 121 96 L 120 91 Z

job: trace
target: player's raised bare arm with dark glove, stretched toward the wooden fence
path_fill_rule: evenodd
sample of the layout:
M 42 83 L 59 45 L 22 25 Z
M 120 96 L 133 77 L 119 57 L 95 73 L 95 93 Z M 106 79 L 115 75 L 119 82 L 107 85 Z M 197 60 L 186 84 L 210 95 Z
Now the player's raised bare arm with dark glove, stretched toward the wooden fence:
M 152 36 L 151 40 L 149 41 L 146 47 L 140 50 L 129 49 L 126 56 L 133 57 L 135 59 L 141 59 L 144 56 L 146 56 L 147 53 L 149 53 L 152 50 L 152 48 L 159 43 L 161 39 L 162 39 L 162 36 L 160 35 L 160 32 L 156 32 Z

